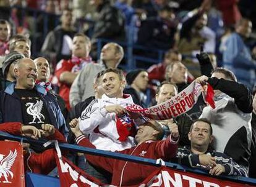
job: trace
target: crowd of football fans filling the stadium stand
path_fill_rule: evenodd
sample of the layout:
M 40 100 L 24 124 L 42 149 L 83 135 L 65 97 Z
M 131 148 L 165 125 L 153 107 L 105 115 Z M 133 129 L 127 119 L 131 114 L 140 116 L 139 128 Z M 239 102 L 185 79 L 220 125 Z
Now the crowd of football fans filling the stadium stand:
M 242 0 L 90 2 L 1 4 L 0 130 L 161 158 L 209 175 L 256 178 L 255 10 Z M 22 14 L 24 4 L 43 12 L 35 20 Z M 45 14 L 51 15 L 48 22 Z M 79 30 L 74 20 L 85 17 L 94 20 L 93 28 Z M 46 24 L 50 31 L 45 38 Z M 119 42 L 126 41 L 131 27 L 137 29 L 134 44 L 166 51 L 162 63 L 148 68 L 141 60 L 140 69 L 119 68 L 129 58 Z M 35 37 L 37 42 L 31 42 Z M 105 43 L 97 58 L 99 38 L 113 42 Z M 134 53 L 155 58 L 144 50 Z M 164 103 L 194 80 L 213 87 L 215 108 L 200 96 L 187 113 L 162 121 L 126 109 Z M 28 143 L 23 149 L 25 170 L 56 175 L 54 149 Z M 62 154 L 113 185 L 137 185 L 156 169 L 90 154 Z

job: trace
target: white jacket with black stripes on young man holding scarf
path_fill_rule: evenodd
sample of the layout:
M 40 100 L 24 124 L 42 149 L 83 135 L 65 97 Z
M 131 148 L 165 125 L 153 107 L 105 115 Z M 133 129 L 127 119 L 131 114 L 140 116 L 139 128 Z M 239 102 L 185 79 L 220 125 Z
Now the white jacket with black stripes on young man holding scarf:
M 103 95 L 101 99 L 93 100 L 82 112 L 79 129 L 84 134 L 90 134 L 89 139 L 97 149 L 106 151 L 121 151 L 135 146 L 134 138 L 128 137 L 126 141 L 118 140 L 119 135 L 116 128 L 116 114 L 108 113 L 105 106 L 121 105 L 126 107 L 132 105 L 132 97 L 124 95 L 124 98 L 108 97 Z M 143 119 L 137 119 L 135 124 L 142 124 Z

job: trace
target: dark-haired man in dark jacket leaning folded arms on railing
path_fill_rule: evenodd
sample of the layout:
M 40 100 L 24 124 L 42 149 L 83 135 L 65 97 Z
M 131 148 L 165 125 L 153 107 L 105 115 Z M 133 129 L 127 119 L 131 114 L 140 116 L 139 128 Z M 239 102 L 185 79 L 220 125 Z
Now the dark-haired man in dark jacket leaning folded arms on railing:
M 198 119 L 191 125 L 189 133 L 190 148 L 179 148 L 179 164 L 209 170 L 210 175 L 237 175 L 248 177 L 247 170 L 236 164 L 226 154 L 209 149 L 213 141 L 213 129 L 207 119 Z

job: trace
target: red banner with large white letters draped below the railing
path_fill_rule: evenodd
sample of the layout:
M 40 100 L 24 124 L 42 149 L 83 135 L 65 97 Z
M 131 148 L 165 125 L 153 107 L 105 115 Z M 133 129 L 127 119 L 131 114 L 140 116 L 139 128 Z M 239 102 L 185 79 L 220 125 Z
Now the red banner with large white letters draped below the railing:
M 113 186 L 104 185 L 96 180 L 79 167 L 72 164 L 65 157 L 59 158 L 56 154 L 58 165 L 59 180 L 62 187 L 82 187 L 82 186 Z M 142 183 L 129 187 L 241 187 L 247 186 L 241 183 L 211 178 L 195 173 L 182 172 L 181 170 L 160 167 L 153 172 Z

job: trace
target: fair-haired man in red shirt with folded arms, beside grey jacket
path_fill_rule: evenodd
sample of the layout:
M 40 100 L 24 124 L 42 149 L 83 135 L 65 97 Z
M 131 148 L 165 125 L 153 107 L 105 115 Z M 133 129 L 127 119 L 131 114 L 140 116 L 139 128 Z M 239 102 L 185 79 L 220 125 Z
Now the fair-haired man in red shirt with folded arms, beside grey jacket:
M 59 95 L 65 100 L 67 109 L 69 105 L 69 90 L 77 74 L 87 63 L 92 62 L 89 56 L 91 50 L 90 39 L 85 34 L 75 34 L 73 38 L 72 58 L 61 60 L 56 66 L 53 84 L 58 83 Z

